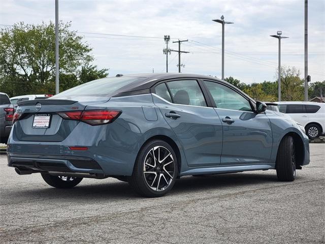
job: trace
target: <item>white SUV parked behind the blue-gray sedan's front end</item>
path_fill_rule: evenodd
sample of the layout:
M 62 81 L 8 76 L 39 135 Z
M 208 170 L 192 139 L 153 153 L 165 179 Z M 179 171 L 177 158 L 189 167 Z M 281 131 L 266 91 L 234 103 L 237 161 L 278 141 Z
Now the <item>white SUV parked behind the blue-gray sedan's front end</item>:
M 325 132 L 325 103 L 277 102 L 279 111 L 290 115 L 305 127 L 309 138 L 317 138 Z

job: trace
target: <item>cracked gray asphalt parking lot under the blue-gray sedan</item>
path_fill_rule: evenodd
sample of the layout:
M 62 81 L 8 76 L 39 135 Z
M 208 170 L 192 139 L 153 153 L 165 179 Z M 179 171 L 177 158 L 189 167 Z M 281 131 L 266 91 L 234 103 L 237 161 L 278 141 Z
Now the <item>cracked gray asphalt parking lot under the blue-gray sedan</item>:
M 324 243 L 325 144 L 310 151 L 294 182 L 274 170 L 188 176 L 155 199 L 112 178 L 54 189 L 0 155 L 0 242 Z

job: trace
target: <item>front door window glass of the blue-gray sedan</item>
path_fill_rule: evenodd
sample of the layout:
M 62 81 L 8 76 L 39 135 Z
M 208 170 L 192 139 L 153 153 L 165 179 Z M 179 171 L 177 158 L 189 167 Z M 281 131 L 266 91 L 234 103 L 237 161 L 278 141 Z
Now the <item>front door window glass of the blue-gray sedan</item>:
M 252 111 L 249 101 L 235 90 L 213 82 L 204 81 L 217 108 Z

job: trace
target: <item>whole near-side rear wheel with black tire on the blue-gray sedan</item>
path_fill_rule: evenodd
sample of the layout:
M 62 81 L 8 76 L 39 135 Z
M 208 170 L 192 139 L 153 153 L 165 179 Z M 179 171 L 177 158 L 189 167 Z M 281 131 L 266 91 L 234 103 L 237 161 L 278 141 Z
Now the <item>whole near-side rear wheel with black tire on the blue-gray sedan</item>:
M 159 151 L 164 156 L 160 155 L 159 158 Z M 161 163 L 159 163 L 160 160 Z M 152 140 L 140 149 L 128 182 L 140 196 L 161 197 L 173 188 L 177 175 L 178 164 L 173 148 L 165 141 Z

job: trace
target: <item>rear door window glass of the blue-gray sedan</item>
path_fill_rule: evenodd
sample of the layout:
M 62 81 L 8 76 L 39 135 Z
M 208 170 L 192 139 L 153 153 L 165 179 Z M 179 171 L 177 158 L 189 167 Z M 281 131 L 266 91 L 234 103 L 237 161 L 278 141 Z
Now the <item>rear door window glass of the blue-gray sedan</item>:
M 196 80 L 177 80 L 167 82 L 173 103 L 206 107 L 202 90 Z

